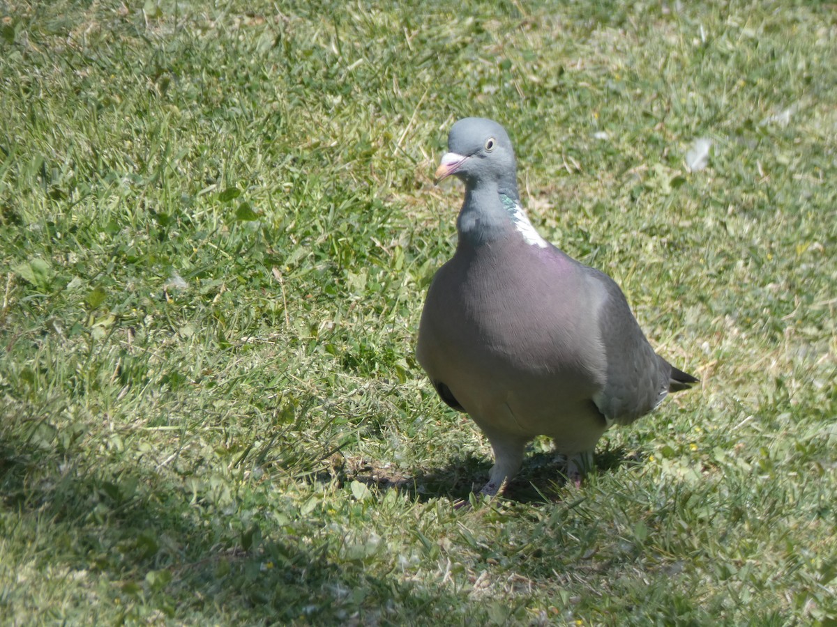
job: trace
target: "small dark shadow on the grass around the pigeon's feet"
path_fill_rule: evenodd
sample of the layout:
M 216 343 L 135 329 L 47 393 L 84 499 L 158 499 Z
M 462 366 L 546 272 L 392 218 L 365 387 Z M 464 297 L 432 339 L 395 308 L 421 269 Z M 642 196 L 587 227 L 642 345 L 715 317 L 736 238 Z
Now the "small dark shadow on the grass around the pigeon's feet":
M 642 460 L 641 453 L 624 446 L 596 451 L 593 472 L 614 472 L 621 466 L 633 466 Z M 346 480 L 365 483 L 379 492 L 397 489 L 420 502 L 447 498 L 454 502 L 467 501 L 471 492 L 488 481 L 490 458 L 465 454 L 450 459 L 445 466 L 422 468 L 416 472 L 391 467 L 381 468 L 370 462 L 347 469 Z M 521 472 L 509 482 L 503 497 L 511 501 L 557 502 L 562 500 L 561 488 L 567 482 L 564 462 L 552 452 L 533 452 L 526 455 Z

